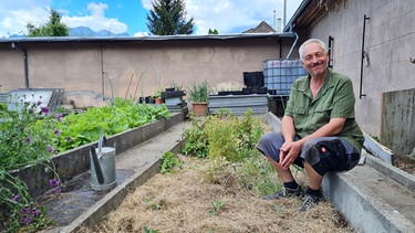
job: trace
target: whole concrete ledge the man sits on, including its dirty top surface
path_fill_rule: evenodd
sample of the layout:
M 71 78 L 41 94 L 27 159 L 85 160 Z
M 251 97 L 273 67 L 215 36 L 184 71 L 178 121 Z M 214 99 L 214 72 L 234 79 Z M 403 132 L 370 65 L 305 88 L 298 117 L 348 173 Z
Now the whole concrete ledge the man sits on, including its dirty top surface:
M 280 130 L 281 120 L 272 113 L 267 116 L 268 124 L 274 130 Z M 400 211 L 392 206 L 387 200 L 381 198 L 377 193 L 371 191 L 365 184 L 383 182 L 387 189 L 382 192 L 390 192 L 394 189 L 387 179 L 400 183 L 407 189 L 408 200 L 414 200 L 415 177 L 411 176 L 387 162 L 382 161 L 371 155 L 363 155 L 366 158 L 365 167 L 357 166 L 346 172 L 329 172 L 324 176 L 322 189 L 325 199 L 342 212 L 349 224 L 357 231 L 362 232 L 415 232 L 415 224 Z M 365 171 L 365 172 L 362 172 Z M 367 173 L 374 177 L 374 181 L 369 180 Z M 386 180 L 381 178 L 384 174 Z M 404 193 L 406 190 L 403 191 Z M 405 200 L 396 200 L 404 202 Z M 401 203 L 404 205 L 405 203 Z M 409 205 L 414 203 L 406 203 Z

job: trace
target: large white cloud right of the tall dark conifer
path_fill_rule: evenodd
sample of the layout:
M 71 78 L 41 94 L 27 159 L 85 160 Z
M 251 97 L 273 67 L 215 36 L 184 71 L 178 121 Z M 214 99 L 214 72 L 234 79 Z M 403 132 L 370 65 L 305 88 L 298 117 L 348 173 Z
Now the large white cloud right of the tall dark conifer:
M 302 0 L 287 0 L 287 21 L 290 20 Z M 152 0 L 142 0 L 143 7 L 152 9 Z M 207 34 L 209 29 L 219 34 L 241 33 L 266 21 L 273 27 L 276 20 L 283 18 L 283 0 L 185 0 L 186 19 L 191 17 L 197 27 L 196 34 Z

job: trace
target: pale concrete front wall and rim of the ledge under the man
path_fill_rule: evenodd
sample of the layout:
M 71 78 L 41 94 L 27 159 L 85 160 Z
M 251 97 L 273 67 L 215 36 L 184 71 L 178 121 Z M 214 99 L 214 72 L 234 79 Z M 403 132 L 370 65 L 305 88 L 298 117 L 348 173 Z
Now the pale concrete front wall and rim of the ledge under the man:
M 359 180 L 353 179 L 350 172 L 353 170 L 329 172 L 324 176 L 323 194 L 342 212 L 353 229 L 373 233 L 415 231 L 411 221 Z

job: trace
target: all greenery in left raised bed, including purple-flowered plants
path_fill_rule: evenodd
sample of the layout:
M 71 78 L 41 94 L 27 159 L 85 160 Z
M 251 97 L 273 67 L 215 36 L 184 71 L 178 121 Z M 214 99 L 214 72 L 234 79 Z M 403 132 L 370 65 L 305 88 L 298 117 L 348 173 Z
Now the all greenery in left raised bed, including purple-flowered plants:
M 34 232 L 51 224 L 44 210 L 31 200 L 27 184 L 10 176 L 10 170 L 42 162 L 54 173 L 48 166 L 53 155 L 96 141 L 100 135 L 115 135 L 170 115 L 166 106 L 137 105 L 123 98 L 66 117 L 49 113 L 40 102 L 20 104 L 20 110 L 0 107 L 0 222 L 10 232 Z M 50 184 L 60 191 L 58 174 Z

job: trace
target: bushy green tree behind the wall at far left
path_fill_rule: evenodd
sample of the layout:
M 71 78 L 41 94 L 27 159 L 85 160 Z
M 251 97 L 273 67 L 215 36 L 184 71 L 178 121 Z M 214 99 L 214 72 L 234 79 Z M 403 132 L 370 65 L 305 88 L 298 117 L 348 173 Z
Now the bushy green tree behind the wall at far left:
M 32 23 L 25 25 L 28 36 L 69 36 L 69 28 L 61 23 L 61 14 L 51 8 L 51 14 L 46 24 L 34 27 Z

